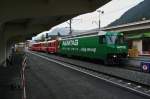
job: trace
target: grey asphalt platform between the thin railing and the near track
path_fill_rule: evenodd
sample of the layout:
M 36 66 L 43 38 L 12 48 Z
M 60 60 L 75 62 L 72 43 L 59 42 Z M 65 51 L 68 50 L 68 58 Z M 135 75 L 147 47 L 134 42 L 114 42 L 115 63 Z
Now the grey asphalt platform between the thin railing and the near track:
M 27 56 L 28 99 L 146 99 L 36 55 Z

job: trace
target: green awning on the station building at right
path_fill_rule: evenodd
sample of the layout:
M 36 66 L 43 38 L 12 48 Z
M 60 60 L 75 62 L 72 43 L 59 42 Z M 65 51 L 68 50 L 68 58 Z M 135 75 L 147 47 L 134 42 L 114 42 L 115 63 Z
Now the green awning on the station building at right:
M 150 32 L 128 35 L 127 40 L 138 40 L 138 39 L 144 39 L 144 38 L 150 38 Z

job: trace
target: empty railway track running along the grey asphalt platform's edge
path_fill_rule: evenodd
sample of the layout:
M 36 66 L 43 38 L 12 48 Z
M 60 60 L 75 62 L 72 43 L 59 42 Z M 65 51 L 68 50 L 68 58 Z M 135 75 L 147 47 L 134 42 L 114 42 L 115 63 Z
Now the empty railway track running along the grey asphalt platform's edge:
M 50 58 L 50 57 L 48 57 L 48 55 L 41 55 L 39 53 L 37 54 L 37 53 L 32 53 L 32 52 L 29 52 L 29 53 L 34 54 L 38 57 L 44 58 L 48 61 L 55 62 L 59 65 L 65 66 L 67 68 L 70 68 L 70 69 L 85 73 L 87 75 L 90 75 L 92 77 L 96 77 L 98 79 L 104 80 L 106 82 L 115 84 L 118 87 L 122 87 L 122 88 L 124 88 L 130 92 L 134 92 L 138 95 L 140 94 L 143 97 L 150 98 L 150 87 L 149 86 L 145 86 L 145 85 L 139 84 L 137 82 L 129 81 L 129 80 L 115 77 L 112 75 L 108 75 L 108 74 L 105 74 L 102 72 L 98 72 L 96 70 L 85 68 L 85 67 L 79 66 L 77 64 L 73 64 L 71 62 L 65 62 L 64 60 Z

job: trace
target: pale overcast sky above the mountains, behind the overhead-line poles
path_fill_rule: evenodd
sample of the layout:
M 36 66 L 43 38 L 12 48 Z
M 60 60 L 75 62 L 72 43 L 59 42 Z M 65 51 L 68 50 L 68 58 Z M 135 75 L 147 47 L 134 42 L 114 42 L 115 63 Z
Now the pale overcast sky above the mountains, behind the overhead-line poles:
M 97 9 L 104 11 L 104 14 L 101 14 L 101 26 L 104 27 L 111 22 L 118 19 L 123 13 L 128 9 L 134 7 L 144 0 L 112 0 L 103 7 Z M 89 30 L 98 28 L 98 12 L 94 11 L 92 13 L 80 15 L 74 18 L 72 27 L 77 30 Z M 67 23 L 60 24 L 55 27 L 69 27 Z M 54 27 L 54 28 L 55 28 Z

